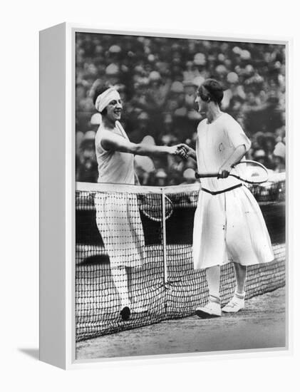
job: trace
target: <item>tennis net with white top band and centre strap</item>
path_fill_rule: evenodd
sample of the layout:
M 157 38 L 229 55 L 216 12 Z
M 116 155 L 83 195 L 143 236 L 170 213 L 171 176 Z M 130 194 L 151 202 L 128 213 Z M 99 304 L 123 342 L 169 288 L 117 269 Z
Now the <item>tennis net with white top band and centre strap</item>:
M 251 190 L 275 259 L 248 268 L 247 298 L 283 287 L 286 274 L 285 176 Z M 189 316 L 205 305 L 205 272 L 195 271 L 192 263 L 198 191 L 199 184 L 76 184 L 76 341 Z M 126 268 L 132 304 L 128 321 L 120 318 L 118 277 L 112 274 L 117 264 L 133 267 Z M 232 264 L 221 272 L 225 304 L 234 293 Z

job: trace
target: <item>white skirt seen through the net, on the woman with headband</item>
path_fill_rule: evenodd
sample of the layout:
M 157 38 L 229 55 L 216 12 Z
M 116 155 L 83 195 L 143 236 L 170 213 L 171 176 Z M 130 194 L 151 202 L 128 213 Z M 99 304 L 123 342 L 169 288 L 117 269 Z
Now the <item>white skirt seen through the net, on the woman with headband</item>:
M 96 222 L 110 267 L 141 267 L 145 237 L 136 195 L 97 193 Z

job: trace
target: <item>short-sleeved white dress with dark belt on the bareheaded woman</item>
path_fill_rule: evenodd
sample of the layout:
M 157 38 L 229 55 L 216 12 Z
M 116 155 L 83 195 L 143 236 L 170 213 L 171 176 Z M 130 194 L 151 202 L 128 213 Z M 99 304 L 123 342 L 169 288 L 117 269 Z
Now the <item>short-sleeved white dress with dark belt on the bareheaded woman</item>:
M 212 123 L 202 120 L 197 128 L 198 171 L 219 172 L 239 145 L 249 150 L 251 142 L 231 115 L 222 113 Z M 231 176 L 201 180 L 193 233 L 195 269 L 229 261 L 251 265 L 274 259 L 259 205 L 247 187 L 238 187 L 240 184 Z M 228 190 L 231 187 L 235 188 Z

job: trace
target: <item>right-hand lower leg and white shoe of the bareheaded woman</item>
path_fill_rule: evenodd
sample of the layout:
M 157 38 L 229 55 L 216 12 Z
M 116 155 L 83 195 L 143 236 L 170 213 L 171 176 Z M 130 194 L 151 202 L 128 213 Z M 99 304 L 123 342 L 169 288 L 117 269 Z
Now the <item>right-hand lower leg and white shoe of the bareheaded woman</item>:
M 244 309 L 244 299 L 245 299 L 245 284 L 247 277 L 247 267 L 239 263 L 234 263 L 234 273 L 237 282 L 234 296 L 229 301 L 227 305 L 224 306 L 222 311 L 226 313 L 237 313 L 237 311 Z

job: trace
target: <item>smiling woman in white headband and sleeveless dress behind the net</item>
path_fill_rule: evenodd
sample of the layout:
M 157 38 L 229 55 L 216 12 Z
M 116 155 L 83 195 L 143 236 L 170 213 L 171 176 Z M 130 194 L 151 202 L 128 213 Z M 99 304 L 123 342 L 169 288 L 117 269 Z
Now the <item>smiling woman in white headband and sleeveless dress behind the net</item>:
M 94 104 L 102 118 L 95 135 L 98 182 L 135 185 L 134 155 L 170 154 L 187 158 L 185 145 L 169 147 L 130 143 L 119 122 L 123 107 L 115 88 L 96 91 Z M 120 200 L 115 193 L 98 192 L 95 207 L 97 226 L 110 257 L 113 281 L 120 296 L 120 316 L 128 320 L 130 313 L 147 311 L 143 306 L 131 304 L 126 271 L 128 267 L 141 267 L 145 259 L 138 201 L 130 193 Z

